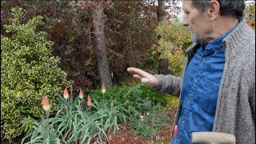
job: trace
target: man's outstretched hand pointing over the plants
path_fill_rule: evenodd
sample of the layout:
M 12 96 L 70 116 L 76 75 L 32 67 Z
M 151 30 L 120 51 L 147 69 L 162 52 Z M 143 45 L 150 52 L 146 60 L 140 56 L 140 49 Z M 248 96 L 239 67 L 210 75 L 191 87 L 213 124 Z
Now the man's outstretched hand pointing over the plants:
M 146 83 L 151 87 L 158 85 L 158 78 L 156 78 L 153 74 L 147 73 L 146 71 L 135 67 L 128 67 L 127 71 L 130 74 L 134 74 L 134 78 L 140 79 L 141 82 Z

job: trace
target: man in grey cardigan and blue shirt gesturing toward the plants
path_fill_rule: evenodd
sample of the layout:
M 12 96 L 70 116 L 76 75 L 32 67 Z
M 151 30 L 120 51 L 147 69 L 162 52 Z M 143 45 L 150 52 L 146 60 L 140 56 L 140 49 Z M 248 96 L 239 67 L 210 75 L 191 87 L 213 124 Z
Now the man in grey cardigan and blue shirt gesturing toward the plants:
M 182 77 L 127 69 L 154 90 L 180 98 L 172 143 L 191 143 L 198 131 L 255 143 L 255 33 L 242 19 L 244 8 L 242 0 L 184 0 L 182 24 L 198 43 L 186 50 Z

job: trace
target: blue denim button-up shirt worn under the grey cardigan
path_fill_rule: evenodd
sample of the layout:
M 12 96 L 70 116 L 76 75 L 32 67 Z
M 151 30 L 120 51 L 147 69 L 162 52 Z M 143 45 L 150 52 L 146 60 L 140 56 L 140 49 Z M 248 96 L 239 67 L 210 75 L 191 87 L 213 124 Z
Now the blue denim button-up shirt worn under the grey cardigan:
M 182 113 L 178 118 L 178 133 L 172 144 L 190 144 L 192 132 L 212 130 L 225 64 L 222 40 L 232 30 L 206 46 L 200 46 L 187 66 L 180 99 Z

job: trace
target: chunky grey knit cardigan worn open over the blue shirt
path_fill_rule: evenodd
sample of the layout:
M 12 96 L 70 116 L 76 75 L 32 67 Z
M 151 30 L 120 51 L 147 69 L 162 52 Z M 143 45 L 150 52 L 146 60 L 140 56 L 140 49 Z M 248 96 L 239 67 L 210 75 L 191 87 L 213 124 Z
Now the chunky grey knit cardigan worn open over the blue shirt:
M 225 67 L 218 91 L 218 102 L 212 131 L 234 134 L 238 144 L 255 143 L 255 32 L 243 20 L 222 41 Z M 186 50 L 182 77 L 156 74 L 154 90 L 179 96 L 186 66 L 200 45 Z M 175 124 L 181 114 L 178 104 Z M 173 133 L 171 133 L 173 139 Z

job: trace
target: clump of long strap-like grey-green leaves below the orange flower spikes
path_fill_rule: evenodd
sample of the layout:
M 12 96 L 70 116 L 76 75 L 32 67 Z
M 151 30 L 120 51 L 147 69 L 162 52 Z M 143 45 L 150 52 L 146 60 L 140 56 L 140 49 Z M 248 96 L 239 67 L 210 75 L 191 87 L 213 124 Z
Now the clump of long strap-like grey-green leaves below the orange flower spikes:
M 22 143 L 87 143 L 108 142 L 108 135 L 116 134 L 119 122 L 126 122 L 130 114 L 122 105 L 113 107 L 110 101 L 98 102 L 92 99 L 92 106 L 86 106 L 85 99 L 76 97 L 74 102 L 58 98 L 58 112 L 52 118 L 41 120 L 26 118 L 27 129 Z M 115 103 L 115 102 L 114 102 Z M 113 133 L 111 133 L 113 132 Z

